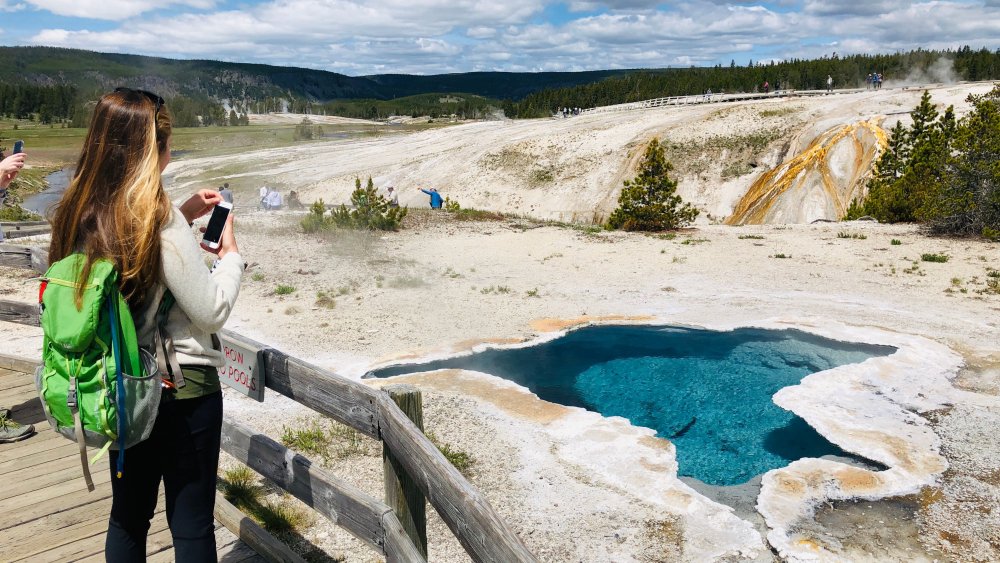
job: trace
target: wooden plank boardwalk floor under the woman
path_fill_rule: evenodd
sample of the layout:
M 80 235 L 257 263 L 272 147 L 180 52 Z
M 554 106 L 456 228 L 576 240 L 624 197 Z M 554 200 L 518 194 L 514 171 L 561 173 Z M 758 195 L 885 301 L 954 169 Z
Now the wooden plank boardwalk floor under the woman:
M 103 561 L 111 510 L 107 459 L 95 464 L 97 490 L 88 493 L 76 445 L 49 428 L 26 371 L 30 366 L 0 357 L 0 405 L 38 431 L 27 440 L 0 444 L 0 561 Z M 150 562 L 174 560 L 163 511 L 161 491 L 146 546 Z M 216 526 L 220 561 L 264 561 L 228 529 Z

